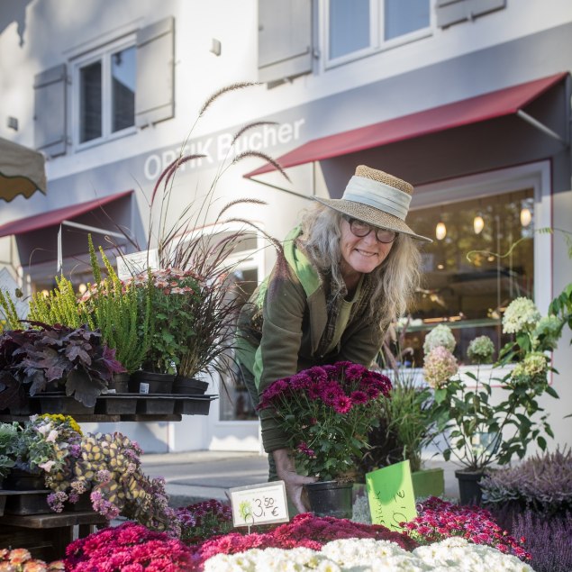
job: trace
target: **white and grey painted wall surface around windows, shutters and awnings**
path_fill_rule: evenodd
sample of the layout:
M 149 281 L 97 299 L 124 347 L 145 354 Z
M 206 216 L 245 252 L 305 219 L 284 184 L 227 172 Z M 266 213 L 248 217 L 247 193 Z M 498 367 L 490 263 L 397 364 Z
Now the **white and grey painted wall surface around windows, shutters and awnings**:
M 322 0 L 313 0 L 314 14 L 319 14 L 313 23 L 313 48 L 319 55 L 313 59 L 311 73 L 273 88 L 250 86 L 222 95 L 195 123 L 201 105 L 217 89 L 258 79 L 255 0 L 86 0 L 81 6 L 73 0 L 5 2 L 0 10 L 0 94 L 4 113 L 0 118 L 0 137 L 34 146 L 33 82 L 38 73 L 168 16 L 175 17 L 175 117 L 89 149 L 75 152 L 72 146 L 66 155 L 50 159 L 47 195 L 37 193 L 30 200 L 17 197 L 3 205 L 0 224 L 132 188 L 136 208 L 131 230 L 144 247 L 152 187 L 160 170 L 177 157 L 185 142 L 188 152 L 204 151 L 211 159 L 196 160 L 177 175 L 173 195 L 176 205 L 200 200 L 213 181 L 232 134 L 245 123 L 270 120 L 280 124 L 276 129 L 266 127 L 250 132 L 239 142 L 243 149 L 248 148 L 248 143 L 250 148 L 276 157 L 331 133 L 572 70 L 569 0 L 507 0 L 502 10 L 448 28 L 433 26 L 431 34 L 417 41 L 333 68 L 327 67 L 323 55 L 324 4 Z M 434 6 L 431 14 L 434 21 Z M 210 51 L 213 39 L 221 42 L 218 57 Z M 69 86 L 68 95 L 72 92 L 73 86 Z M 8 115 L 18 118 L 18 132 L 6 126 Z M 422 186 L 527 163 L 538 155 L 539 146 L 549 147 L 546 155 L 551 157 L 554 227 L 572 230 L 569 146 L 556 151 L 550 147 L 555 145 L 552 141 L 535 140 L 531 149 L 525 143 L 516 149 L 514 139 L 518 133 L 514 130 L 523 129 L 522 126 L 511 120 L 495 129 L 495 137 L 489 141 L 485 134 L 484 141 L 472 139 L 471 145 L 457 149 L 455 155 L 436 153 L 431 163 L 423 165 L 407 159 L 414 153 L 425 153 L 423 141 L 392 146 L 383 153 L 372 150 L 360 159 L 380 168 L 389 165 L 391 169 L 387 170 Z M 566 129 L 569 131 L 569 126 Z M 451 141 L 452 135 L 442 133 L 438 137 Z M 323 166 L 324 181 L 332 194 L 339 195 L 343 190 L 355 160 L 350 156 Z M 239 207 L 235 213 L 260 222 L 280 239 L 308 204 L 304 195 L 323 193 L 323 187 L 313 188 L 309 168 L 293 169 L 292 184 L 271 179 L 301 197 L 242 177 L 260 164 L 259 159 L 245 159 L 234 165 L 222 177 L 216 192 L 224 200 L 256 196 L 267 201 L 266 206 Z M 169 214 L 170 220 L 179 212 L 175 208 Z M 554 235 L 551 248 L 550 281 L 556 295 L 572 280 L 572 265 L 561 234 Z M 13 241 L 0 239 L 0 260 L 13 261 L 11 272 L 15 276 L 18 265 L 25 261 L 17 260 L 11 250 Z M 272 262 L 273 254 L 268 250 L 266 268 Z M 554 377 L 560 400 L 546 404 L 559 443 L 566 442 L 572 430 L 572 420 L 564 419 L 570 413 L 566 404 L 572 398 L 566 374 L 571 365 L 569 338 L 567 331 L 554 354 L 554 365 L 561 372 Z M 144 449 L 153 451 L 258 447 L 251 439 L 255 434 L 252 428 L 250 436 L 243 436 L 238 443 L 228 444 L 229 441 L 213 436 L 218 434 L 213 431 L 214 414 L 213 411 L 209 417 L 186 420 L 185 428 L 183 424 L 168 430 L 160 425 L 140 427 L 137 437 Z M 189 424 L 194 428 L 192 441 L 185 438 Z M 229 434 L 232 431 L 228 429 Z

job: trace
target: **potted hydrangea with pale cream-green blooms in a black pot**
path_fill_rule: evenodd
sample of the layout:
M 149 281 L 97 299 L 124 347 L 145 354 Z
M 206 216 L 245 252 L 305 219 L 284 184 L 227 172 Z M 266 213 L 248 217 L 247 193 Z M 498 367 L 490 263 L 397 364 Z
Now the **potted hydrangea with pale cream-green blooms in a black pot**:
M 480 501 L 477 484 L 487 467 L 505 465 L 515 455 L 522 459 L 533 441 L 544 450 L 545 435 L 552 436 L 538 398 L 558 397 L 549 386 L 549 359 L 543 352 L 554 347 L 561 322 L 554 316 L 540 319 L 531 300 L 517 298 L 504 313 L 503 331 L 514 333 L 516 340 L 501 351 L 488 379 L 481 378 L 478 367 L 476 373 L 458 375 L 457 361 L 444 346 L 430 348 L 425 357 L 425 379 L 435 391 L 434 413 L 445 442 L 443 457 L 452 455 L 464 467 L 456 471 L 463 503 Z M 493 350 L 492 341 L 480 336 L 469 344 L 468 356 L 478 366 L 492 360 Z M 495 370 L 501 368 L 508 372 L 497 377 Z M 505 398 L 494 399 L 493 387 L 506 392 Z

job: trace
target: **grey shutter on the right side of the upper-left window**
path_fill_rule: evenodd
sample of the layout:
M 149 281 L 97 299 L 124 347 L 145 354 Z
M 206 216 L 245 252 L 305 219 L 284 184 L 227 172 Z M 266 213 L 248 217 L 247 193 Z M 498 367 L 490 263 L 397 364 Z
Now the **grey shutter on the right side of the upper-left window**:
M 165 18 L 137 32 L 135 125 L 146 127 L 175 114 L 175 20 Z

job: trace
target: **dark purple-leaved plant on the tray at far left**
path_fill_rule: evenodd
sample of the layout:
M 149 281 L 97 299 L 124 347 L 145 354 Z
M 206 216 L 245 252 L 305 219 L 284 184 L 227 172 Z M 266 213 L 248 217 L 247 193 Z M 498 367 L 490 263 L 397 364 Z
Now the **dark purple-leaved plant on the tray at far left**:
M 31 325 L 28 330 L 5 331 L 0 336 L 3 383 L 12 390 L 12 400 L 14 395 L 22 396 L 22 391 L 18 393 L 14 387 L 19 390 L 23 387 L 34 396 L 55 386 L 63 388 L 67 396 L 73 395 L 86 411 L 89 408 L 93 411 L 97 396 L 107 387 L 113 372 L 123 371 L 114 351 L 102 343 L 101 333 L 90 331 L 86 325 L 78 328 L 40 322 Z M 0 407 L 7 406 L 4 400 L 0 401 Z M 63 406 L 49 404 L 46 397 L 41 404 Z

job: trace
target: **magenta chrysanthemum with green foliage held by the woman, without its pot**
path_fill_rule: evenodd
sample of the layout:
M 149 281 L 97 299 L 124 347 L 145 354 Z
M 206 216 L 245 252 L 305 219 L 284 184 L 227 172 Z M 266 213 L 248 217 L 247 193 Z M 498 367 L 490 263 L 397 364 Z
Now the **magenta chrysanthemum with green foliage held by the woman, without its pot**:
M 390 390 L 381 373 L 339 361 L 278 379 L 262 394 L 259 409 L 276 412 L 298 471 L 344 480 L 368 448 L 368 432 Z

